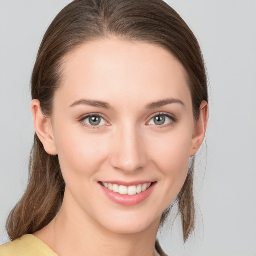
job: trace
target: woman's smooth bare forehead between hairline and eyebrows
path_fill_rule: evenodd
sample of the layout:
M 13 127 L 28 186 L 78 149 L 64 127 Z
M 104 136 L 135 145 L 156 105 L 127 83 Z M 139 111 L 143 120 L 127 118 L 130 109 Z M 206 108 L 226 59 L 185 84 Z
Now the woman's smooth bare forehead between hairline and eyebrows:
M 191 101 L 182 64 L 164 48 L 146 42 L 86 42 L 65 56 L 62 75 L 56 97 L 70 103 L 79 97 L 112 104 L 116 99 L 122 105 L 168 97 Z

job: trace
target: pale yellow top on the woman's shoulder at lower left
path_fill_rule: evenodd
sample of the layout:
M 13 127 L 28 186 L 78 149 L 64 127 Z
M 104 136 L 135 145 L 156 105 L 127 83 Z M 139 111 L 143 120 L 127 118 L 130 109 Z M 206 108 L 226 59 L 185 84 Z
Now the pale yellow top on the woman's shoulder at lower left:
M 43 241 L 32 234 L 25 234 L 19 239 L 0 246 L 0 256 L 57 256 Z

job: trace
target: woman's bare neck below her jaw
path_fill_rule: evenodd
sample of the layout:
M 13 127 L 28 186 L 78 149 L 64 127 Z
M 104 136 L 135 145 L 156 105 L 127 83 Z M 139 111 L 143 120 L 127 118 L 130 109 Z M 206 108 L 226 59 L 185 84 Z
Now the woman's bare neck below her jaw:
M 49 225 L 51 241 L 44 241 L 61 256 L 153 256 L 158 227 L 159 219 L 156 219 L 140 232 L 113 232 L 64 200 L 57 217 Z

